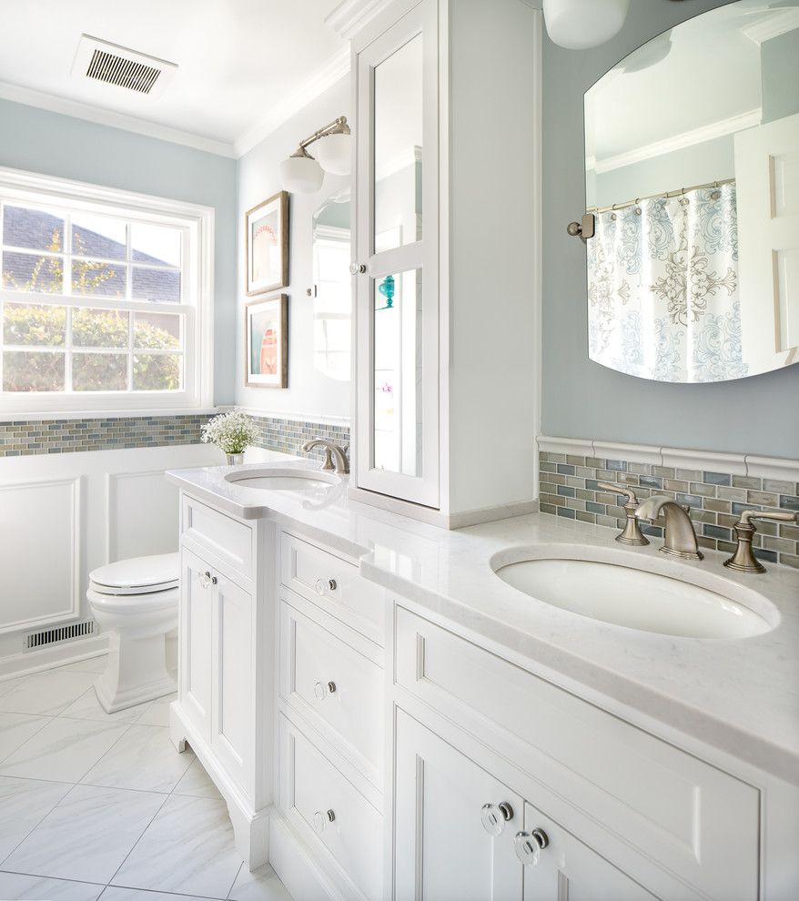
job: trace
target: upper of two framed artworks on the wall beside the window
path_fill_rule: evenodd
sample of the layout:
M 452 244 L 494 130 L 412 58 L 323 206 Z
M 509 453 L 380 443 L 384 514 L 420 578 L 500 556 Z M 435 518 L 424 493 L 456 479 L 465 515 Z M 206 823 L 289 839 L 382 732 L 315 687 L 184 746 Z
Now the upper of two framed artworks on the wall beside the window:
M 244 215 L 247 296 L 288 286 L 288 194 L 280 191 Z

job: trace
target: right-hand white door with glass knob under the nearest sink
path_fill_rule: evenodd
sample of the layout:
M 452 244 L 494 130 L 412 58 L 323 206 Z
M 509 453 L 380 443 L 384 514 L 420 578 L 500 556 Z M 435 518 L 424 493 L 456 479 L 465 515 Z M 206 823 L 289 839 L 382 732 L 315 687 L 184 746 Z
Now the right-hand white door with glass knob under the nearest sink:
M 524 901 L 655 901 L 645 888 L 531 804 L 524 805 L 524 829 L 542 830 L 549 841 L 538 864 L 524 867 Z

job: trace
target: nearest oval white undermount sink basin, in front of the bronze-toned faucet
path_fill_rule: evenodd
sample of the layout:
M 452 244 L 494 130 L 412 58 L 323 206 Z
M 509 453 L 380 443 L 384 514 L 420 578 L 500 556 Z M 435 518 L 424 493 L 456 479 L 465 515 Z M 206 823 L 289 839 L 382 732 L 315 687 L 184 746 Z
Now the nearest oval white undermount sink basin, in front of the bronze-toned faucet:
M 683 579 L 654 572 L 663 563 L 651 558 L 640 563 L 646 569 L 638 569 L 626 565 L 626 560 L 584 559 L 582 554 L 581 559 L 573 559 L 560 553 L 502 552 L 491 566 L 503 582 L 539 601 L 642 632 L 747 638 L 769 632 L 779 620 L 776 608 L 763 595 L 714 573 L 689 571 Z M 692 576 L 704 585 L 688 581 Z

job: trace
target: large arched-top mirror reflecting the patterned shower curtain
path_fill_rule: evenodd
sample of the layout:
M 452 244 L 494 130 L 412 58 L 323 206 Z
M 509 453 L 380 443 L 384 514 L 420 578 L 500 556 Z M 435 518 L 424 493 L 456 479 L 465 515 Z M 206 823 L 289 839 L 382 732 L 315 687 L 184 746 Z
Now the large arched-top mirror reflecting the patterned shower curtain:
M 678 25 L 585 96 L 589 355 L 645 379 L 799 361 L 799 0 Z

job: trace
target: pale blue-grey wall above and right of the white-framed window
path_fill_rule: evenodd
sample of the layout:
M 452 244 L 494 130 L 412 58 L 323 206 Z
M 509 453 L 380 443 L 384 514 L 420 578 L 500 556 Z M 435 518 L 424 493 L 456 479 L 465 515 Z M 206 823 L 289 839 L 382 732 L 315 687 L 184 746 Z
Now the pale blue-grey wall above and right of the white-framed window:
M 216 209 L 214 400 L 232 403 L 236 160 L 0 100 L 0 166 Z

